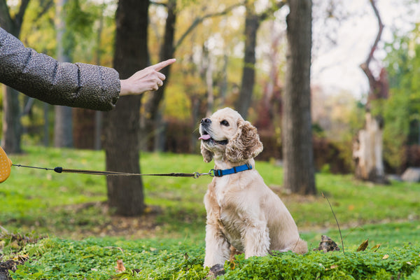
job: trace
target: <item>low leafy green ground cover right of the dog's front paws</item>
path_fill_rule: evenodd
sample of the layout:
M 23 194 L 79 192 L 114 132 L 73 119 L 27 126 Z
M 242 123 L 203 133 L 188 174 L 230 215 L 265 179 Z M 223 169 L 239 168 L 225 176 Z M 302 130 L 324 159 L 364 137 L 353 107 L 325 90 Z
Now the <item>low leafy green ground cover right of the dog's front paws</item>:
M 235 261 L 225 265 L 221 279 L 391 279 L 405 277 L 420 266 L 419 247 L 405 246 L 385 251 L 281 253 L 265 258 Z M 386 257 L 388 256 L 388 257 Z

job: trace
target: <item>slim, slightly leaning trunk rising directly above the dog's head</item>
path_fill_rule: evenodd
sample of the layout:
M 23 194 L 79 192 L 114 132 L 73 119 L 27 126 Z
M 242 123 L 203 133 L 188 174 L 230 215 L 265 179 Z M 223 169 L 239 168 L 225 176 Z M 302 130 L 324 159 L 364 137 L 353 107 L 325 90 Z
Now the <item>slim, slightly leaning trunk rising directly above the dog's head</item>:
M 242 72 L 241 91 L 235 105 L 244 119 L 248 116 L 255 83 L 255 47 L 257 45 L 258 27 L 260 27 L 260 18 L 255 13 L 254 3 L 251 1 L 246 4 L 244 70 Z

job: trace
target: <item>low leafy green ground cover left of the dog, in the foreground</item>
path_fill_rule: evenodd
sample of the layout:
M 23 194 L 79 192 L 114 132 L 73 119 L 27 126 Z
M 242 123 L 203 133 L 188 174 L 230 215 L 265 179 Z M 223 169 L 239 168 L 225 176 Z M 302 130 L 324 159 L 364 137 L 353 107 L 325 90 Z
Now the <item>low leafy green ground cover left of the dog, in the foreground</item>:
M 202 279 L 203 246 L 167 240 L 43 239 L 13 279 Z M 127 269 L 116 272 L 117 260 Z

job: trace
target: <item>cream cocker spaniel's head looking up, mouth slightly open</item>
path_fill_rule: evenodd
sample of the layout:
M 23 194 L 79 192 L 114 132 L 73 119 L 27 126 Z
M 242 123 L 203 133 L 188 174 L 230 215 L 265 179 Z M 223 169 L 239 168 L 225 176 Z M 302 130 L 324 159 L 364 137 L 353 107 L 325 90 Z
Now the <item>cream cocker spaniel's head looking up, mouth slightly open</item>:
M 204 162 L 211 162 L 214 155 L 222 155 L 230 162 L 241 162 L 255 158 L 262 151 L 257 129 L 230 108 L 203 118 L 200 134 Z

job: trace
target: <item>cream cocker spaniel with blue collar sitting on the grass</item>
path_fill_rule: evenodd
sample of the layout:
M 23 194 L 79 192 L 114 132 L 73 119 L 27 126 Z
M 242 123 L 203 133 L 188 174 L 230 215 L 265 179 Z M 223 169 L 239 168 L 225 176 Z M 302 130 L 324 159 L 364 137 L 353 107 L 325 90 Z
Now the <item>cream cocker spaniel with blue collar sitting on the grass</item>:
M 200 135 L 204 162 L 214 160 L 214 178 L 204 196 L 204 267 L 220 267 L 232 249 L 245 258 L 272 251 L 307 253 L 290 212 L 255 170 L 253 158 L 262 152 L 257 129 L 225 108 L 201 120 Z

